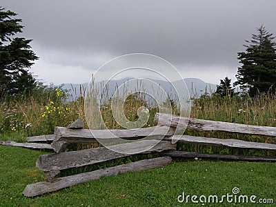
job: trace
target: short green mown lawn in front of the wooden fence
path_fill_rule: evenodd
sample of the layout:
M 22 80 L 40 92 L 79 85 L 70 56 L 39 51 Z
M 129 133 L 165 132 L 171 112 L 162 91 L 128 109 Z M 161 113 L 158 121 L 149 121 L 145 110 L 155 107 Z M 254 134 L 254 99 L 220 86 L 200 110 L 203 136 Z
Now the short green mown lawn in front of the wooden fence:
M 272 198 L 274 204 L 208 204 L 204 206 L 275 206 L 276 164 L 227 161 L 174 162 L 163 168 L 127 172 L 79 184 L 34 198 L 23 197 L 27 184 L 43 181 L 35 168 L 37 157 L 46 151 L 0 146 L 1 206 L 203 206 L 179 204 L 178 195 L 256 195 Z

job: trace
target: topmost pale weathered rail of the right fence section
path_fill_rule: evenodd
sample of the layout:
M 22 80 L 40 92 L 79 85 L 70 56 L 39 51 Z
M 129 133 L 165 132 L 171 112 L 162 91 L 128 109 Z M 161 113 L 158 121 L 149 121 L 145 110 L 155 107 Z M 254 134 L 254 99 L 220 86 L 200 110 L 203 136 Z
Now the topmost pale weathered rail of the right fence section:
M 188 121 L 188 126 L 187 126 Z M 210 121 L 195 118 L 177 117 L 167 114 L 157 113 L 154 119 L 155 124 L 159 126 L 184 126 L 187 128 L 193 128 L 195 130 L 206 131 L 223 131 L 223 132 L 238 132 L 242 134 L 250 135 L 266 135 L 276 137 L 276 127 L 269 126 L 253 126 L 247 124 L 235 124 L 222 121 Z

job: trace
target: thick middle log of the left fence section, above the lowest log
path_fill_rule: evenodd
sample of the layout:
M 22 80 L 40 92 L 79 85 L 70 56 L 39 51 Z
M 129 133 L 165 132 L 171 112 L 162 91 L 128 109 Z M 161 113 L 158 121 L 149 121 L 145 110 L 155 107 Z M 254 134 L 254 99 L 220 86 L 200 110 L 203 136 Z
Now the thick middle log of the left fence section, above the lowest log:
M 67 168 L 97 164 L 103 161 L 127 157 L 129 155 L 175 150 L 176 148 L 176 145 L 171 144 L 170 141 L 160 141 L 159 144 L 156 144 L 156 140 L 143 140 L 109 146 L 110 150 L 108 148 L 101 147 L 87 150 L 61 152 L 59 154 L 40 155 L 37 159 L 36 166 L 39 170 L 44 172 L 64 170 Z M 145 148 L 148 148 L 148 150 L 145 151 Z M 119 153 L 124 151 L 127 151 L 128 153 Z

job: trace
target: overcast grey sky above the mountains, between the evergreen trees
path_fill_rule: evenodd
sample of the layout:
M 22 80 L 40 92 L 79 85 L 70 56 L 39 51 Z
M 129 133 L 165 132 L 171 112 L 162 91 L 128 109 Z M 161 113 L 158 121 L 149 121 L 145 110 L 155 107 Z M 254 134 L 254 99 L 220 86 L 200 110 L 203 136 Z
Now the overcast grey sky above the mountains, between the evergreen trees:
M 237 52 L 262 24 L 276 34 L 275 0 L 1 0 L 23 19 L 46 83 L 85 83 L 103 63 L 133 52 L 166 59 L 181 75 L 235 81 Z

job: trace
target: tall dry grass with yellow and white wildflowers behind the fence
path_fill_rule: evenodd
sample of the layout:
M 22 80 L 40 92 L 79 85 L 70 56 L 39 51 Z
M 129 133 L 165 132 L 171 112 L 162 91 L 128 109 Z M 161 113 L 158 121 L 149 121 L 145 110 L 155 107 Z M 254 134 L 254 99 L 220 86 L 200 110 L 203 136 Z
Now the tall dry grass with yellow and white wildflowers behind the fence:
M 86 120 L 84 112 L 85 91 L 83 87 L 73 88 L 79 97 L 66 95 L 66 91 L 56 88 L 51 95 L 28 97 L 28 99 L 14 99 L 0 101 L 0 134 L 1 139 L 24 141 L 24 137 L 52 134 L 55 126 L 68 126 L 78 117 Z M 106 101 L 101 104 L 101 115 L 108 128 L 121 128 L 112 115 L 110 97 L 103 97 Z M 173 102 L 171 100 L 171 102 Z M 154 101 L 148 101 L 143 95 L 130 95 L 124 103 L 124 114 L 130 121 L 138 119 L 137 109 L 148 107 L 150 119 L 144 127 L 152 126 L 153 117 L 159 109 Z M 203 95 L 193 99 L 191 117 L 228 121 L 239 124 L 259 126 L 276 126 L 276 95 L 259 95 L 259 97 L 235 96 L 220 97 Z M 85 121 L 86 123 L 86 121 Z M 85 128 L 88 128 L 87 124 Z M 262 141 L 275 143 L 273 137 L 255 135 L 237 135 L 223 132 L 197 132 L 186 130 L 188 135 L 204 137 L 235 138 L 246 141 Z

